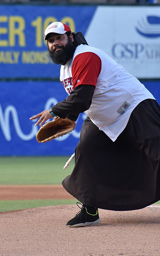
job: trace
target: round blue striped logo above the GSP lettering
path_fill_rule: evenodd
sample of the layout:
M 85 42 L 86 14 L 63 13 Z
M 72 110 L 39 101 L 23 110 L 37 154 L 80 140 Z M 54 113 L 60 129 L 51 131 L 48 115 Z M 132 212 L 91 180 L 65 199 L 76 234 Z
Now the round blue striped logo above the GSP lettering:
M 160 36 L 160 17 L 147 16 L 138 21 L 136 31 L 142 36 L 156 38 Z

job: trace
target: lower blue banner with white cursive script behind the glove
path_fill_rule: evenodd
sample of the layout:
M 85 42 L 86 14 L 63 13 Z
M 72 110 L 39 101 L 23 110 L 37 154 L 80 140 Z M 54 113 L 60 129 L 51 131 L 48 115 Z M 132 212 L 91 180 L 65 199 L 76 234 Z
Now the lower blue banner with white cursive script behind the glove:
M 160 104 L 160 81 L 141 81 Z M 75 130 L 59 139 L 38 143 L 30 117 L 67 97 L 60 82 L 1 82 L 0 156 L 72 155 L 86 115 L 80 114 Z

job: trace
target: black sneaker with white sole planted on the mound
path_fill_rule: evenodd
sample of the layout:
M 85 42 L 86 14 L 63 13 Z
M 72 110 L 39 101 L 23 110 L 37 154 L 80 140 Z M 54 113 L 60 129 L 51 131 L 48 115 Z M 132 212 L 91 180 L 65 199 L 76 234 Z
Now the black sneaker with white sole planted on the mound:
M 77 206 L 78 204 L 80 203 L 77 203 Z M 67 227 L 77 228 L 101 223 L 97 208 L 94 210 L 95 214 L 90 214 L 85 206 L 82 205 L 82 208 L 80 206 L 78 207 L 81 209 L 80 212 L 78 212 L 72 220 L 67 222 Z

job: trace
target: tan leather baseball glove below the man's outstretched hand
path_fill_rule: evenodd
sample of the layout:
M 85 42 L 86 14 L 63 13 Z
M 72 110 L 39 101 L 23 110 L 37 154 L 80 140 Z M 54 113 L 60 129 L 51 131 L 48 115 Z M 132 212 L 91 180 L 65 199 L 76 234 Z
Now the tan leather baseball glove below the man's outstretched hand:
M 74 130 L 76 123 L 68 118 L 56 117 L 54 120 L 42 125 L 36 135 L 39 143 L 51 141 Z

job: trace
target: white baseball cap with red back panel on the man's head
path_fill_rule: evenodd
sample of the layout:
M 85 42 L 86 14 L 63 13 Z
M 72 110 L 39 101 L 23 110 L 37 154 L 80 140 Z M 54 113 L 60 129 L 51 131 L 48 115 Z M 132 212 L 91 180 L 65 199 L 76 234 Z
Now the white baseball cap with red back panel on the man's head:
M 44 32 L 44 40 L 49 33 L 65 34 L 66 32 L 71 32 L 70 27 L 62 22 L 51 23 Z

